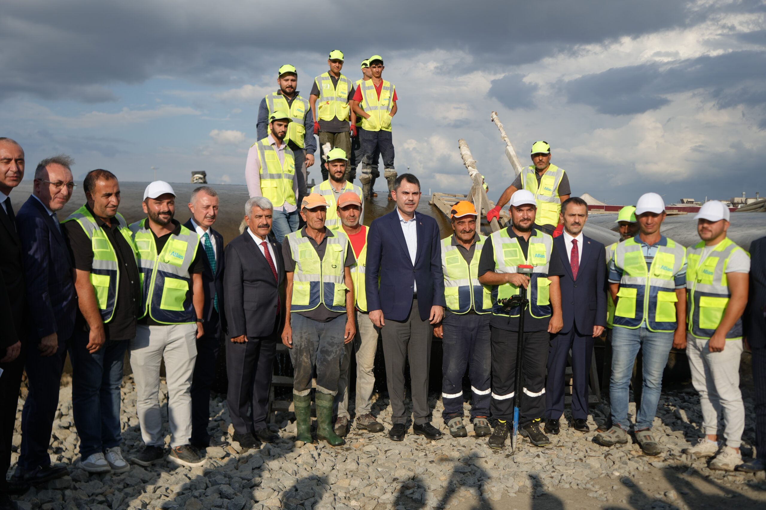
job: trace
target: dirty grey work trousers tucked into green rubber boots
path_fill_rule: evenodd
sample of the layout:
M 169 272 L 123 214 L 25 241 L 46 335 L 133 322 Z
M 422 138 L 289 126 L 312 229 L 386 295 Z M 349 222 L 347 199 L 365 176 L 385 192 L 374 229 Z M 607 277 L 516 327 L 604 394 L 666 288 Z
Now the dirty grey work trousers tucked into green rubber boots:
M 345 313 L 338 317 L 319 322 L 308 319 L 300 313 L 290 315 L 293 328 L 293 393 L 309 395 L 311 378 L 316 368 L 316 391 L 327 395 L 338 393 L 340 365 L 345 353 Z

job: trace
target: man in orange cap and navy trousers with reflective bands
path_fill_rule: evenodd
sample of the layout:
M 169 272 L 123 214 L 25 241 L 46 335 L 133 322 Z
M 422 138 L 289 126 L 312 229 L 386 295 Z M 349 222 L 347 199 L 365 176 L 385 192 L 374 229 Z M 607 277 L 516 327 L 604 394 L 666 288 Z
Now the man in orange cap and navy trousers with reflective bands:
M 478 275 L 486 237 L 476 230 L 479 216 L 473 203 L 466 200 L 456 203 L 450 219 L 454 233 L 441 240 L 447 311 L 442 323 L 434 328 L 434 335 L 442 339 L 444 347 L 442 418 L 452 437 L 468 435 L 463 424 L 463 375 L 469 365 L 473 432 L 476 437 L 484 437 L 492 433 L 489 427 L 492 290 L 479 283 Z

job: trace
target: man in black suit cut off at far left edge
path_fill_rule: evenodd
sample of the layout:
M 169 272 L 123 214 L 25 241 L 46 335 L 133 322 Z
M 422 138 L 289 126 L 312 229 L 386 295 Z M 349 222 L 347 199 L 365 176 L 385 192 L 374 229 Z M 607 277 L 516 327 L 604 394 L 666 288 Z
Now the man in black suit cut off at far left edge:
M 3 324 L 0 335 L 0 510 L 18 508 L 8 495 L 22 494 L 28 487 L 5 479 L 11 466 L 18 389 L 24 371 L 22 350 L 26 350 L 22 349 L 22 344 L 26 345 L 26 289 L 21 239 L 8 195 L 24 178 L 24 163 L 21 145 L 11 138 L 0 138 L 0 314 Z

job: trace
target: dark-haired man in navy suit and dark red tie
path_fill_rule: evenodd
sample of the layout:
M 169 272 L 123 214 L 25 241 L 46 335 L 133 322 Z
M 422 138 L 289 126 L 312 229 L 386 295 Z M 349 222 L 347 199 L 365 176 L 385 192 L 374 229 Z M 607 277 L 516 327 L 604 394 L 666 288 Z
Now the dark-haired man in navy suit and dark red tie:
M 571 427 L 588 432 L 588 373 L 593 344 L 607 325 L 607 291 L 603 261 L 604 245 L 585 237 L 588 203 L 570 197 L 561 204 L 564 234 L 553 239 L 565 274 L 561 282 L 561 313 L 564 326 L 552 336 L 548 350 L 548 381 L 545 384 L 545 432 L 558 434 L 564 414 L 564 378 L 569 350 L 572 353 Z

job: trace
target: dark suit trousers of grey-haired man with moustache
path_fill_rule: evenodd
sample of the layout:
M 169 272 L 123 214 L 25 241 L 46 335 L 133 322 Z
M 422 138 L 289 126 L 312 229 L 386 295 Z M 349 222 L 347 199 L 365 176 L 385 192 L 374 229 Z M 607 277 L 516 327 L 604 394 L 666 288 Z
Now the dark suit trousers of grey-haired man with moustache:
M 269 336 L 248 336 L 244 343 L 226 341 L 226 404 L 236 434 L 266 427 L 274 356 L 280 341 L 277 326 Z

